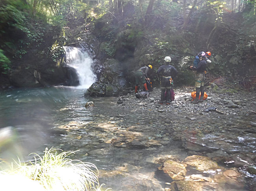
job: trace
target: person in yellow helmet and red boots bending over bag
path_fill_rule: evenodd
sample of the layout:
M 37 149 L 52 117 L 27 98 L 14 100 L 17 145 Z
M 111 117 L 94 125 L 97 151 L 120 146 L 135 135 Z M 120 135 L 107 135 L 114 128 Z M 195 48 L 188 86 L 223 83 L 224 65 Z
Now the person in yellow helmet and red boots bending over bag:
M 138 92 L 140 83 L 143 84 L 145 91 L 148 91 L 146 80 L 150 80 L 150 78 L 148 78 L 149 69 L 152 69 L 152 65 L 150 64 L 148 66 L 141 67 L 135 73 L 135 93 Z

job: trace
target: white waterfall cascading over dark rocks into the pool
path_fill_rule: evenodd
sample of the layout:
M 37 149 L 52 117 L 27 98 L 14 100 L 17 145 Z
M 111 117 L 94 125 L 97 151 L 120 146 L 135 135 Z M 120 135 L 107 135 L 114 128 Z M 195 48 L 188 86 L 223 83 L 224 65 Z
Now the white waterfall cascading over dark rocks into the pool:
M 78 88 L 89 88 L 96 81 L 96 75 L 91 70 L 93 60 L 87 52 L 80 48 L 66 46 L 64 49 L 67 56 L 67 65 L 76 69 L 79 79 Z

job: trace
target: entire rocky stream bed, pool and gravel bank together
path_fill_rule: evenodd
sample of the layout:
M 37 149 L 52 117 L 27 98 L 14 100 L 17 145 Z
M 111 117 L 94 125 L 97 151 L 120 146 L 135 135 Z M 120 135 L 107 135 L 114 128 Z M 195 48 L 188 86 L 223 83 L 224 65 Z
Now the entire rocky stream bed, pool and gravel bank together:
M 65 87 L 6 91 L 1 126 L 17 130 L 19 151 L 76 151 L 113 191 L 254 191 L 256 93 L 208 88 L 191 104 L 191 91 L 174 88 L 170 105 L 158 104 L 158 88 L 148 98 L 133 88 L 103 98 Z

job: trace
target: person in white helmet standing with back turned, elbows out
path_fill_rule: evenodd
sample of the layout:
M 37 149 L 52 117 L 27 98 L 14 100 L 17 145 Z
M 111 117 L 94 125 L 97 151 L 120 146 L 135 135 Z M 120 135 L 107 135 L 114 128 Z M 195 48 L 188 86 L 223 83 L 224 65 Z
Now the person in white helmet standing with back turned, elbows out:
M 173 87 L 173 78 L 178 74 L 178 71 L 171 63 L 171 57 L 166 56 L 164 58 L 165 64 L 158 68 L 157 74 L 160 76 L 161 81 L 161 96 L 159 104 L 165 102 L 165 91 L 166 91 L 166 104 L 171 103 L 171 88 Z

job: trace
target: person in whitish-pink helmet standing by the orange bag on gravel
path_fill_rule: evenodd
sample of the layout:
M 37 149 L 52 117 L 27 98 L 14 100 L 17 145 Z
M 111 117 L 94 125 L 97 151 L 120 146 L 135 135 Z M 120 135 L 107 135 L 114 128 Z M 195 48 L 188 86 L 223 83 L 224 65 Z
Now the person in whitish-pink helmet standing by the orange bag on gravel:
M 196 70 L 196 76 L 195 76 L 195 88 L 196 88 L 196 97 L 195 100 L 193 100 L 192 104 L 197 104 L 198 102 L 202 102 L 204 98 L 204 81 L 206 78 L 206 66 L 208 61 L 206 60 L 206 56 L 200 57 L 200 62 L 198 63 L 197 67 L 191 65 L 189 68 Z M 200 99 L 199 95 L 201 93 Z

